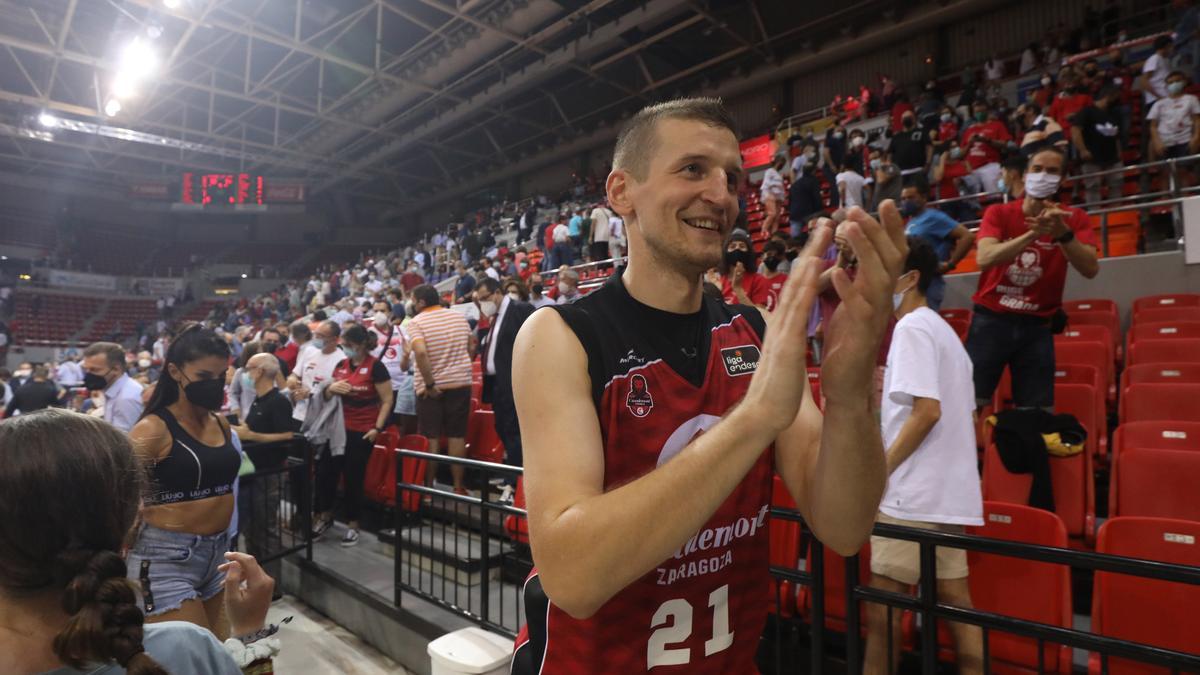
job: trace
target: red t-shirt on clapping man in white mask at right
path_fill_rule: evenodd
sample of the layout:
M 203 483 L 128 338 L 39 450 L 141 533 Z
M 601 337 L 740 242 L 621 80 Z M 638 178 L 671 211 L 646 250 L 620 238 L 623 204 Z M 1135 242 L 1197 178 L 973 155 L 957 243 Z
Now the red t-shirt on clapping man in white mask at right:
M 995 204 L 983 213 L 979 239 L 1007 241 L 1028 232 L 1024 199 Z M 1096 246 L 1096 233 L 1087 214 L 1073 207 L 1067 226 L 1081 244 Z M 1021 251 L 1016 259 L 985 269 L 979 275 L 979 288 L 972 300 L 996 312 L 1050 316 L 1062 306 L 1062 288 L 1067 283 L 1067 256 L 1062 249 L 1042 237 Z

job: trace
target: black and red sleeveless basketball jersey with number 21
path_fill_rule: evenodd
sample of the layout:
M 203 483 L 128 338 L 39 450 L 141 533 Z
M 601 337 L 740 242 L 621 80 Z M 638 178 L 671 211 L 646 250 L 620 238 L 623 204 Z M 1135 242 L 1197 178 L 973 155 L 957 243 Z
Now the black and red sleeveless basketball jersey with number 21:
M 588 356 L 606 490 L 662 466 L 716 424 L 758 365 L 763 324 L 752 307 L 706 297 L 697 315 L 672 315 L 636 301 L 617 275 L 557 310 Z M 694 537 L 590 619 L 550 603 L 534 571 L 512 673 L 755 673 L 770 597 L 773 470 L 763 448 Z

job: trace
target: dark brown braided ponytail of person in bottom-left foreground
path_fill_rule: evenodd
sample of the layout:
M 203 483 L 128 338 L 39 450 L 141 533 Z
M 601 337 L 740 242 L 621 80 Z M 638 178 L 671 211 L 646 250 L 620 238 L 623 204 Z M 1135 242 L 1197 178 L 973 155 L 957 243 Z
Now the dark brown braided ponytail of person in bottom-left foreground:
M 130 675 L 167 675 L 142 645 L 145 616 L 125 560 L 112 550 L 67 549 L 54 561 L 70 616 L 54 637 L 54 653 L 72 668 L 115 661 Z

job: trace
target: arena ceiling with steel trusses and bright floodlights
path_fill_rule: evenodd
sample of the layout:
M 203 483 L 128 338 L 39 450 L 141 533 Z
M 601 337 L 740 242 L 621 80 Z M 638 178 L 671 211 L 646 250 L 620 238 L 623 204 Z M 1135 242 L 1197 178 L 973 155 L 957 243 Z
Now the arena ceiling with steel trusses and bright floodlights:
M 403 208 L 912 5 L 0 0 L 0 171 L 254 172 Z

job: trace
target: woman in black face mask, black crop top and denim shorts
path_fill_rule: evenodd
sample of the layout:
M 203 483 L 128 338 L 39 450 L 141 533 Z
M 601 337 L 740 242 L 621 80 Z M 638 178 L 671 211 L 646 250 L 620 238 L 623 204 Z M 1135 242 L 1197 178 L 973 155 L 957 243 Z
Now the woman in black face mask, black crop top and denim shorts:
M 224 404 L 229 346 L 199 324 L 167 350 L 162 376 L 130 431 L 150 473 L 143 525 L 128 554 L 148 622 L 187 621 L 229 637 L 218 566 L 229 550 L 233 485 L 241 455 Z

